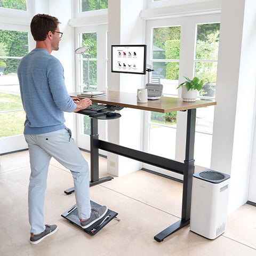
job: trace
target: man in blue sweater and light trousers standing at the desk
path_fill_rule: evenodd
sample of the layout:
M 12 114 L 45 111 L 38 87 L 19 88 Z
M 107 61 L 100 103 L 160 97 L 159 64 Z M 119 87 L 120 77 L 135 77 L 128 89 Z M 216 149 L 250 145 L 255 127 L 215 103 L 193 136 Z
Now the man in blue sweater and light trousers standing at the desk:
M 92 105 L 90 99 L 70 98 L 65 86 L 63 67 L 51 55 L 59 50 L 62 33 L 59 20 L 37 14 L 30 29 L 36 48 L 22 58 L 18 67 L 20 93 L 26 112 L 24 127 L 30 158 L 28 212 L 30 243 L 37 244 L 58 230 L 57 225 L 44 224 L 44 195 L 51 157 L 57 159 L 73 175 L 76 204 L 82 228 L 103 218 L 107 206 L 91 209 L 89 167 L 65 126 L 63 111 L 76 112 Z

